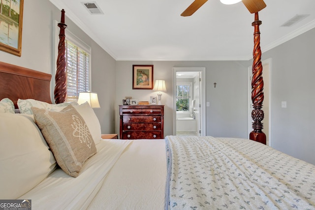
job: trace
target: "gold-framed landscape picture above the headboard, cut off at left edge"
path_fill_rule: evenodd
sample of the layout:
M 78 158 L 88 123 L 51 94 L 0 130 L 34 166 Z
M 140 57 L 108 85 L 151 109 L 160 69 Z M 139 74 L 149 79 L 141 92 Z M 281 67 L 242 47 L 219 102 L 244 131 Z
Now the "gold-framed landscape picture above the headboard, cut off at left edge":
M 21 56 L 24 0 L 1 0 L 0 50 Z

